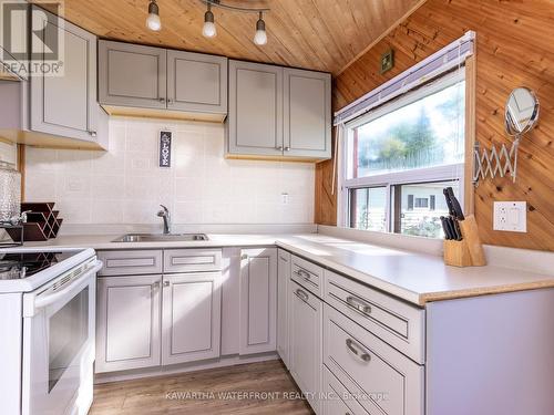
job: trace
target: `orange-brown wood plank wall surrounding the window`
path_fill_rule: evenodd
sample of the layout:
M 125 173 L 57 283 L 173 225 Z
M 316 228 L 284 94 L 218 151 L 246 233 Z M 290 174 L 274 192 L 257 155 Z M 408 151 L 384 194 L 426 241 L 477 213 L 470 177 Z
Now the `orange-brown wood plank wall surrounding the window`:
M 339 110 L 429 56 L 468 30 L 478 35 L 476 139 L 484 147 L 510 144 L 504 104 L 516 86 L 541 101 L 538 127 L 520 147 L 517 180 L 488 178 L 475 189 L 475 216 L 483 242 L 554 250 L 554 3 L 552 0 L 428 0 L 335 80 Z M 379 74 L 382 52 L 392 48 L 396 66 Z M 316 172 L 316 219 L 336 224 L 336 197 L 328 197 L 332 163 Z M 325 196 L 325 197 L 324 197 Z M 494 200 L 527 201 L 527 234 L 492 230 Z

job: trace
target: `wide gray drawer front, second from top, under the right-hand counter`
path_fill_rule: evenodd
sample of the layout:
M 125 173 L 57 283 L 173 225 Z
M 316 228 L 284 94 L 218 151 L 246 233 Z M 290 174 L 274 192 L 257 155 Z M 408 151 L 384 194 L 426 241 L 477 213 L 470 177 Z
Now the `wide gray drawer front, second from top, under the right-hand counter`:
M 329 305 L 324 310 L 324 363 L 369 413 L 423 414 L 423 366 Z

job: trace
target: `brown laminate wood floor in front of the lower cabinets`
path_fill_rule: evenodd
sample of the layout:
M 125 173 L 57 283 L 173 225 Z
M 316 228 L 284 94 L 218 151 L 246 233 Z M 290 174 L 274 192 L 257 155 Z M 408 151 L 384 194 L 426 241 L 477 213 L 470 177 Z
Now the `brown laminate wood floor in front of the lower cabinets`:
M 312 415 L 280 361 L 94 386 L 90 415 Z

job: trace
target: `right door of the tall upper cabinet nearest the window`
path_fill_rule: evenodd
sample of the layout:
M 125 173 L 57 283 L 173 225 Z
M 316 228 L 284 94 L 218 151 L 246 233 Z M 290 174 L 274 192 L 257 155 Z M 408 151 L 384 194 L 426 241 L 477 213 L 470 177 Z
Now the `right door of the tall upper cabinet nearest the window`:
M 330 158 L 331 75 L 285 69 L 285 156 Z

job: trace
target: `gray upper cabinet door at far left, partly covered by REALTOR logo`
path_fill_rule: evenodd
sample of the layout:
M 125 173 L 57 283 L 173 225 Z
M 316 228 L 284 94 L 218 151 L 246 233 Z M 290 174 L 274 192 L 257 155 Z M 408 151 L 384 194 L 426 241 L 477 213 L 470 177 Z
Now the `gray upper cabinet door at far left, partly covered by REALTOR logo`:
M 30 128 L 70 138 L 95 142 L 99 105 L 96 103 L 96 37 L 70 22 L 59 25 L 58 17 L 42 12 L 45 29 L 34 35 L 55 37 L 63 30 L 63 73 L 30 76 Z M 45 48 L 43 45 L 43 48 Z M 41 62 L 33 62 L 33 65 Z

